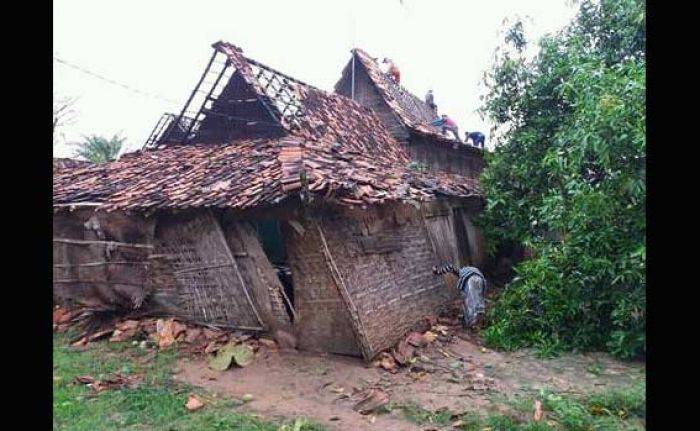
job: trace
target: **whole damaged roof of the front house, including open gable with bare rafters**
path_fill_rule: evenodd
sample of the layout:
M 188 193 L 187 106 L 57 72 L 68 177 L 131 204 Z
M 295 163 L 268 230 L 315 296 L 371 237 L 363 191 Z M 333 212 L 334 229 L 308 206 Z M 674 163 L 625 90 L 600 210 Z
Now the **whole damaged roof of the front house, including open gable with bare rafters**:
M 225 65 L 188 122 L 192 97 L 175 119 L 183 133 L 153 139 L 118 161 L 57 171 L 54 204 L 245 209 L 302 192 L 344 205 L 480 196 L 475 179 L 412 169 L 372 110 L 248 59 L 229 43 L 213 47 Z

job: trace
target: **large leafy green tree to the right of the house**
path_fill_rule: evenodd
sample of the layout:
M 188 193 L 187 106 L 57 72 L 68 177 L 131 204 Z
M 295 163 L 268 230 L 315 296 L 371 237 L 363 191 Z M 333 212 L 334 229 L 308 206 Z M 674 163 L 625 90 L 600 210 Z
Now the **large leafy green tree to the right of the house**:
M 516 23 L 486 74 L 498 145 L 481 224 L 533 252 L 489 313 L 492 345 L 646 351 L 645 13 L 579 2 L 532 59 Z

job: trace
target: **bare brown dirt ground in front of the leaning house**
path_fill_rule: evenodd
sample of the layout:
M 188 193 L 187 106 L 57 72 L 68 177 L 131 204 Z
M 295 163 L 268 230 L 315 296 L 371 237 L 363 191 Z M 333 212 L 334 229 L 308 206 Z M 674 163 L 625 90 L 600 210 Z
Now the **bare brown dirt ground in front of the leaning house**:
M 359 358 L 260 349 L 253 364 L 216 372 L 202 357 L 181 359 L 175 378 L 216 393 L 240 398 L 265 417 L 305 416 L 336 430 L 425 430 L 399 411 L 361 415 L 353 410 L 360 394 L 381 388 L 394 405 L 435 411 L 503 412 L 505 398 L 541 388 L 584 394 L 624 387 L 644 379 L 640 363 L 622 363 L 605 354 L 571 354 L 540 359 L 532 352 L 501 353 L 481 346 L 464 330 L 452 342 L 419 350 L 413 370 L 396 374 Z

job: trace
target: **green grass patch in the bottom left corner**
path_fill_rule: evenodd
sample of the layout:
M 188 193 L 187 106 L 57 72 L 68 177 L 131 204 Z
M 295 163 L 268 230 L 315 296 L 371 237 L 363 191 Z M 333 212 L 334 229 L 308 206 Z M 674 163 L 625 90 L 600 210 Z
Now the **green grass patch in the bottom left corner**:
M 235 411 L 241 403 L 217 397 L 172 380 L 177 360 L 174 349 L 158 352 L 143 361 L 149 350 L 130 343 L 93 343 L 87 350 L 68 347 L 69 336 L 55 334 L 53 340 L 53 428 L 55 430 L 245 430 L 312 431 L 320 425 L 305 419 L 286 423 L 265 421 Z M 76 385 L 78 375 L 97 379 L 108 373 L 144 375 L 136 388 L 106 390 L 99 394 Z M 205 407 L 188 412 L 185 402 L 195 393 Z

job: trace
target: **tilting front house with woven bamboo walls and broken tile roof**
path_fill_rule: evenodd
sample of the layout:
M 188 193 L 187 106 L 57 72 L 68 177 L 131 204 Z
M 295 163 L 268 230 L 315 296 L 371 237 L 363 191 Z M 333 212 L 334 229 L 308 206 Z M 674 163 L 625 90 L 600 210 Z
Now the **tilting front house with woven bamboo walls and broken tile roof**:
M 423 137 L 374 107 L 213 48 L 142 150 L 54 169 L 55 300 L 371 359 L 456 298 L 433 265 L 482 259 L 475 172 L 414 169 Z

